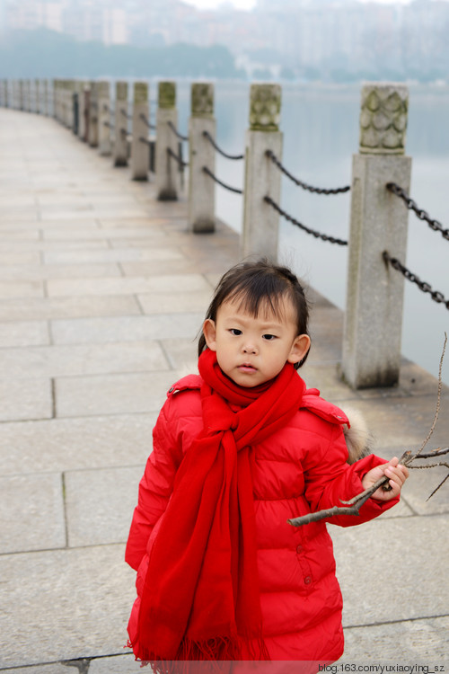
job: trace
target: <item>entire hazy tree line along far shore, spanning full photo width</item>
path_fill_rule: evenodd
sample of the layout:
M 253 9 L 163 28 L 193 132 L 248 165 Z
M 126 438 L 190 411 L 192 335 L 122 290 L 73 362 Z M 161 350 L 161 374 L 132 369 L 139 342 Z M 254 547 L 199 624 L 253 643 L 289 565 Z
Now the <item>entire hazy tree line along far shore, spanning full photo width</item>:
M 361 80 L 432 82 L 447 80 L 449 48 L 426 58 L 410 58 L 406 63 L 391 62 L 391 56 L 374 55 L 361 65 L 357 59 L 336 54 L 316 66 L 292 63 L 274 49 L 248 52 L 258 67 L 252 77 L 258 80 L 356 83 Z M 235 66 L 230 49 L 223 45 L 198 47 L 178 43 L 149 43 L 108 46 L 100 41 L 80 41 L 48 29 L 10 31 L 0 36 L 0 77 L 85 78 L 97 77 L 204 77 L 209 79 L 247 79 L 244 69 Z

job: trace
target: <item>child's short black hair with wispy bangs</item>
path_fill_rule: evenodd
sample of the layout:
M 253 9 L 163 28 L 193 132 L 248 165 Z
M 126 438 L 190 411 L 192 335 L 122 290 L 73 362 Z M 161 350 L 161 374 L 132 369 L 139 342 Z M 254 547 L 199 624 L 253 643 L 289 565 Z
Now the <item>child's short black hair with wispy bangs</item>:
M 236 298 L 241 300 L 240 306 L 255 317 L 259 315 L 260 307 L 264 304 L 278 315 L 284 297 L 288 297 L 295 307 L 297 334 L 309 334 L 309 306 L 304 288 L 293 271 L 266 259 L 241 262 L 226 271 L 218 282 L 212 302 L 207 308 L 206 319 L 216 321 L 218 308 L 225 301 Z M 205 349 L 206 339 L 201 333 L 198 340 L 198 356 Z M 308 354 L 309 351 L 304 359 L 295 363 L 296 369 L 304 365 Z

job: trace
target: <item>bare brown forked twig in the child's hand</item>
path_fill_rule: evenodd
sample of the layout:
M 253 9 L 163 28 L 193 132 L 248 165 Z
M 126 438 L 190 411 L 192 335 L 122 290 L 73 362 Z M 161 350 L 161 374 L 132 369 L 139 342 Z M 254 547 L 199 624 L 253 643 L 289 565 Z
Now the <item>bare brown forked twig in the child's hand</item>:
M 449 448 L 447 447 L 444 449 L 442 448 L 433 449 L 427 454 L 422 453 L 422 450 L 426 447 L 427 442 L 432 437 L 432 434 L 436 428 L 436 421 L 438 420 L 438 414 L 440 412 L 441 390 L 443 386 L 442 369 L 443 369 L 443 360 L 445 359 L 446 343 L 447 343 L 447 334 L 445 333 L 445 342 L 443 344 L 443 351 L 441 354 L 440 366 L 438 369 L 438 391 L 436 396 L 436 412 L 434 415 L 434 421 L 432 422 L 432 426 L 430 427 L 430 430 L 427 433 L 426 439 L 424 440 L 418 451 L 415 454 L 413 454 L 413 452 L 411 452 L 408 449 L 402 454 L 401 458 L 399 459 L 399 463 L 402 466 L 407 466 L 409 468 L 436 468 L 437 466 L 445 466 L 446 468 L 449 469 L 449 463 L 445 462 L 428 464 L 427 466 L 412 466 L 413 461 L 416 461 L 417 459 L 442 457 L 443 455 L 449 453 Z M 445 483 L 447 479 L 449 479 L 449 473 L 445 476 L 443 481 L 438 484 L 438 486 L 436 487 L 436 489 L 434 489 L 434 491 L 430 494 L 430 496 L 428 496 L 427 501 L 438 491 L 438 489 Z M 381 477 L 379 480 L 377 480 L 377 482 L 372 484 L 371 487 L 365 489 L 364 492 L 358 493 L 349 501 L 341 501 L 341 503 L 343 503 L 342 506 L 334 506 L 333 508 L 329 508 L 327 510 L 317 510 L 316 512 L 309 512 L 307 515 L 287 519 L 287 522 L 288 524 L 291 524 L 294 527 L 301 527 L 304 524 L 310 524 L 311 522 L 318 522 L 321 519 L 338 517 L 339 515 L 358 515 L 360 508 L 374 494 L 374 492 L 376 492 L 379 489 L 379 487 L 383 487 L 385 491 L 388 491 L 387 487 L 388 483 L 389 478 L 386 475 L 383 475 L 383 477 Z

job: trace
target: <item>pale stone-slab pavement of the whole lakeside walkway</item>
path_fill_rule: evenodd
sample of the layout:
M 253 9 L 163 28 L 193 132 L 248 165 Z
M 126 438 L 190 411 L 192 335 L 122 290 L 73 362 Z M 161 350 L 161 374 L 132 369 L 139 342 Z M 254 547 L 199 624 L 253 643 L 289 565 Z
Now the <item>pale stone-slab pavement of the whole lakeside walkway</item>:
M 164 392 L 195 363 L 212 288 L 239 259 L 225 225 L 191 235 L 186 207 L 54 120 L 0 109 L 0 670 L 139 670 L 123 648 L 137 484 Z M 348 389 L 342 314 L 311 294 L 308 386 L 363 412 L 378 454 L 418 448 L 436 380 L 404 360 L 397 388 Z M 429 448 L 448 444 L 448 403 L 445 388 Z M 440 474 L 414 472 L 364 527 L 330 527 L 344 662 L 447 664 L 449 486 L 425 501 Z

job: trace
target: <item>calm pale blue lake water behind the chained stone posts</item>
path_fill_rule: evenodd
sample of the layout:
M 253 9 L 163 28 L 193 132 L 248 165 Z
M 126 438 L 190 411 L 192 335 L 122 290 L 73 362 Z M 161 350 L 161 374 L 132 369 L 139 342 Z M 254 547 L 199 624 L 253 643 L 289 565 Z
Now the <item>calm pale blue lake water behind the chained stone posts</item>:
M 179 127 L 185 132 L 188 84 L 179 85 L 178 99 Z M 280 128 L 284 134 L 286 168 L 315 186 L 350 184 L 352 155 L 358 149 L 359 106 L 358 86 L 283 86 Z M 217 142 L 227 153 L 243 152 L 248 107 L 248 84 L 216 83 Z M 410 86 L 407 133 L 407 154 L 413 160 L 410 196 L 445 228 L 449 227 L 447 120 L 448 88 Z M 242 188 L 243 162 L 216 155 L 216 175 Z M 318 196 L 283 178 L 280 205 L 304 225 L 348 239 L 350 192 Z M 216 214 L 241 231 L 242 196 L 216 186 Z M 335 305 L 345 307 L 346 246 L 317 240 L 281 218 L 279 258 Z M 419 279 L 449 298 L 449 241 L 413 213 L 409 214 L 407 258 L 402 262 Z M 404 302 L 402 353 L 437 376 L 445 332 L 449 334 L 449 311 L 409 281 L 405 283 Z M 443 377 L 449 384 L 447 362 Z

